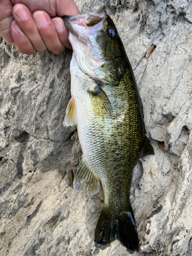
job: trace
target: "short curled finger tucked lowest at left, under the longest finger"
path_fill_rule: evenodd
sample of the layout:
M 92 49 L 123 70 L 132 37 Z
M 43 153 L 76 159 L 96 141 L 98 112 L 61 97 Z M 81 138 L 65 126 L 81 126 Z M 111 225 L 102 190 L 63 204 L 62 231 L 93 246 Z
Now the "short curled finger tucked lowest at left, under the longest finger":
M 13 20 L 11 24 L 11 34 L 15 42 L 15 47 L 20 53 L 27 55 L 33 54 L 35 49 L 33 48 L 29 38 L 16 24 L 15 20 Z

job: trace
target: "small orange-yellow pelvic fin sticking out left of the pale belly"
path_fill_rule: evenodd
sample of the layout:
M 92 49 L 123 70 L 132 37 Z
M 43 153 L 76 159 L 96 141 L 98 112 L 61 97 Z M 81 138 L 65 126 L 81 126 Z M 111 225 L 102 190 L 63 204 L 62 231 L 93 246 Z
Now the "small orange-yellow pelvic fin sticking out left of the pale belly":
M 66 116 L 63 121 L 64 126 L 73 126 L 77 124 L 77 111 L 75 106 L 75 100 L 71 97 L 67 109 L 66 109 Z

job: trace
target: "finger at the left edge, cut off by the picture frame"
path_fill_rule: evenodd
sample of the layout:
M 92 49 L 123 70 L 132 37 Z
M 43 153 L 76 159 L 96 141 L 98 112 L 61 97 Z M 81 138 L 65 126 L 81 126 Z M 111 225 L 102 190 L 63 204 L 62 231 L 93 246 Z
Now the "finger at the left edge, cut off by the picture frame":
M 10 0 L 0 0 L 0 35 L 9 45 L 14 45 L 11 35 L 12 9 L 13 5 Z

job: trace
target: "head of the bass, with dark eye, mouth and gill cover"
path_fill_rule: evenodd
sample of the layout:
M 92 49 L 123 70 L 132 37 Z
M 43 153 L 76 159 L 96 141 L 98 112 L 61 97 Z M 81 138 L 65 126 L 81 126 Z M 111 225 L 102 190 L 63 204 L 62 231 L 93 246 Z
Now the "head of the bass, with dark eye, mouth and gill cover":
M 63 20 L 78 67 L 95 80 L 118 85 L 126 53 L 105 7 L 84 15 L 64 16 Z

